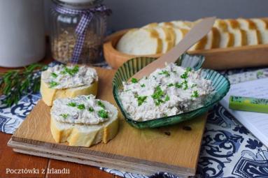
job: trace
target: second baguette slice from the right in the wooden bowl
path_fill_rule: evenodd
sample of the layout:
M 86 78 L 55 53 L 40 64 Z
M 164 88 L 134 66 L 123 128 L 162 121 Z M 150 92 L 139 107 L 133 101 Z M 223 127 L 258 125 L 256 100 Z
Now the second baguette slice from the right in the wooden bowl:
M 238 18 L 240 29 L 244 29 L 247 35 L 247 45 L 258 45 L 262 43 L 260 31 L 258 31 L 256 25 L 251 20 Z

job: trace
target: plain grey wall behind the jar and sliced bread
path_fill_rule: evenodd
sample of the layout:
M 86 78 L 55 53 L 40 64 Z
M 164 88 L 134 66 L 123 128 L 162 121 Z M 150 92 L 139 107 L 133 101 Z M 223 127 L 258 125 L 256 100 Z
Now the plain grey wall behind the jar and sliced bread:
M 44 1 L 48 17 L 51 1 Z M 268 1 L 265 0 L 104 0 L 104 4 L 113 10 L 108 18 L 111 30 L 212 15 L 220 18 L 268 17 Z M 46 24 L 48 29 L 48 19 Z

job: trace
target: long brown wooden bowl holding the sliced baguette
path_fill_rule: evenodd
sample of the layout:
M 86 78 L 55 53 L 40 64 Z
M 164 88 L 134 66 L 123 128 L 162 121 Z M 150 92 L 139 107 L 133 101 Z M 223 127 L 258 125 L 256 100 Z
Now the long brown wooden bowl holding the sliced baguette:
M 104 43 L 104 57 L 112 68 L 119 68 L 125 61 L 134 57 L 160 57 L 162 54 L 131 55 L 115 49 L 118 40 L 129 29 L 118 31 L 106 38 Z M 203 68 L 225 70 L 230 68 L 246 68 L 268 66 L 268 45 L 251 45 L 242 47 L 227 47 L 212 50 L 196 50 L 189 54 L 202 54 L 205 57 Z

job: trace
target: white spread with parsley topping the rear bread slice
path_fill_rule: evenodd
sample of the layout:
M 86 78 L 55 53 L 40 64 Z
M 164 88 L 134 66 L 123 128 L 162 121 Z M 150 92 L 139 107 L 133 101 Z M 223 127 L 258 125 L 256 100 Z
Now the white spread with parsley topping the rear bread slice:
M 41 76 L 52 89 L 68 89 L 92 84 L 98 80 L 94 68 L 87 66 L 56 65 L 49 67 Z

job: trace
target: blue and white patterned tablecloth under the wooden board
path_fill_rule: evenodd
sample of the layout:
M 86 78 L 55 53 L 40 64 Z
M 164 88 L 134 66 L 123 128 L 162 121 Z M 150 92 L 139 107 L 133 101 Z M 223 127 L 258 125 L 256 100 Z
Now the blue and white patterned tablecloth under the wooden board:
M 224 73 L 230 75 L 244 71 Z M 229 79 L 231 83 L 236 83 L 260 77 L 268 77 L 267 68 L 230 75 Z M 12 134 L 40 98 L 40 94 L 29 92 L 17 105 L 12 107 L 0 105 L 0 131 Z M 4 96 L 0 96 L 0 101 L 3 99 Z M 100 169 L 122 177 L 149 177 L 108 168 Z M 157 172 L 150 177 L 177 176 Z M 268 149 L 218 104 L 209 112 L 197 165 L 197 177 L 268 177 Z

